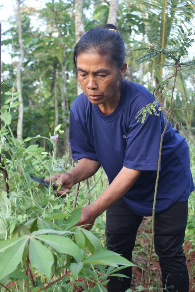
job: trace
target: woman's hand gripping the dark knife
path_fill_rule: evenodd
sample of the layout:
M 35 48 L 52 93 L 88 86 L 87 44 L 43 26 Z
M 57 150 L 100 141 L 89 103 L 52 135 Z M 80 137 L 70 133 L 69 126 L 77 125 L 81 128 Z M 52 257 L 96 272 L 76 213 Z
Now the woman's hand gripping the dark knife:
M 49 178 L 45 178 L 49 183 Z M 70 193 L 70 189 L 73 186 L 73 176 L 71 173 L 56 173 L 51 176 L 51 184 L 58 188 L 58 186 L 61 184 L 60 190 L 56 192 L 58 196 L 66 197 L 66 194 Z

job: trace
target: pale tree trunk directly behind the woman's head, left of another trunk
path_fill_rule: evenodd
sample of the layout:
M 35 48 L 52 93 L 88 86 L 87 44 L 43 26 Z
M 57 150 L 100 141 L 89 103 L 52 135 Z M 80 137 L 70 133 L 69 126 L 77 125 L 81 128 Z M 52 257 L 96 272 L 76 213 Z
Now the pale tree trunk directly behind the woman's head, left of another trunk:
M 84 34 L 83 24 L 83 0 L 75 0 L 75 36 L 78 42 Z M 82 93 L 82 89 L 77 85 L 77 94 Z

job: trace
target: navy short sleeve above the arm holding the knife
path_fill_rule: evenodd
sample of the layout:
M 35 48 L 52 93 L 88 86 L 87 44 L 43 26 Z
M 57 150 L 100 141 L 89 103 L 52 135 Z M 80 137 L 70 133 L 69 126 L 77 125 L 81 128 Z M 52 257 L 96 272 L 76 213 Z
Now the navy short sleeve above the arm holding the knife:
M 99 161 L 89 133 L 79 121 L 76 121 L 72 110 L 70 110 L 69 138 L 73 160 L 88 158 Z

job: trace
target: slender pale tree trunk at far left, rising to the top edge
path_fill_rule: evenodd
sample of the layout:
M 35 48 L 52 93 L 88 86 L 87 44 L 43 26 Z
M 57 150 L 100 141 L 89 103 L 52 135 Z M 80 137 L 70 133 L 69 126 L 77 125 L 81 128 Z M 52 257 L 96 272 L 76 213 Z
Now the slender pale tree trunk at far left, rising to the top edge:
M 17 137 L 22 138 L 23 133 L 23 97 L 22 97 L 22 88 L 21 88 L 21 67 L 24 59 L 24 46 L 22 41 L 22 25 L 21 25 L 21 18 L 20 18 L 20 0 L 17 0 L 17 16 L 18 16 L 18 41 L 20 45 L 20 59 L 17 66 L 17 74 L 16 74 L 16 84 L 17 84 L 17 91 L 20 93 L 18 95 L 18 101 L 20 102 L 18 106 L 18 124 L 17 124 Z

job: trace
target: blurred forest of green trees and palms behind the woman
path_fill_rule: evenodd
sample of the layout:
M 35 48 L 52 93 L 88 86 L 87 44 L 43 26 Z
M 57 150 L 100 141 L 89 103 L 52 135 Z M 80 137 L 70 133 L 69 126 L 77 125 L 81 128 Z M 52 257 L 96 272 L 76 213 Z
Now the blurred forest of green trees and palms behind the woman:
M 54 129 L 61 124 L 61 134 L 54 141 L 54 166 L 58 171 L 66 171 L 68 167 L 73 166 L 71 158 L 68 158 L 67 163 L 67 156 L 70 154 L 69 113 L 71 103 L 80 93 L 73 69 L 73 48 L 84 32 L 106 23 L 117 25 L 125 41 L 125 60 L 128 65 L 126 79 L 143 84 L 153 92 L 167 115 L 170 107 L 170 95 L 167 93 L 172 88 L 174 70 L 165 66 L 167 61 L 165 55 L 158 55 L 140 63 L 137 59 L 143 52 L 137 49 L 150 49 L 156 45 L 162 49 L 169 49 L 180 44 L 184 33 L 194 25 L 194 7 L 194 1 L 182 0 L 10 0 L 6 4 L 1 4 L 1 107 L 6 106 L 8 98 L 13 97 L 13 92 L 18 92 L 15 94 L 15 100 L 18 98 L 18 101 L 11 101 L 13 136 L 23 140 L 27 137 L 37 137 L 33 140 L 27 138 L 26 147 L 34 144 L 43 147 L 43 153 L 48 153 L 49 157 L 52 156 L 53 145 L 46 138 L 50 138 L 49 133 L 54 133 Z M 8 10 L 8 17 L 5 18 Z M 188 49 L 188 54 L 182 57 L 182 61 L 192 59 L 194 46 Z M 193 176 L 195 118 L 194 112 L 188 109 L 195 108 L 194 92 L 193 70 L 179 71 L 172 108 L 184 110 L 173 112 L 170 121 L 188 141 Z M 39 135 L 46 138 L 40 139 Z M 1 146 L 4 143 L 1 135 Z M 5 165 L 8 163 L 6 151 L 7 149 L 3 154 Z M 40 177 L 44 178 L 44 174 L 40 173 Z M 107 180 L 104 174 L 101 174 L 101 186 L 96 180 L 97 178 L 91 180 L 95 188 L 90 191 L 90 197 L 90 192 L 87 193 L 86 202 L 79 202 L 80 205 L 93 200 L 94 196 L 101 193 L 102 187 L 106 187 Z M 2 174 L 2 184 L 3 181 Z M 90 181 L 87 184 L 89 191 Z M 193 199 L 194 194 L 189 201 L 186 234 L 188 244 L 186 252 L 189 260 L 194 256 L 195 250 Z M 101 230 L 100 233 L 103 234 L 104 225 L 100 221 L 98 224 L 96 231 Z M 146 238 L 147 236 L 146 234 Z M 143 246 L 145 250 L 139 248 L 137 243 L 137 251 L 139 256 L 143 254 L 146 257 L 147 239 L 142 240 Z M 156 269 L 154 267 L 153 271 Z M 194 279 L 194 270 L 195 265 L 192 263 L 191 279 Z M 137 284 L 144 283 L 143 267 L 141 271 L 141 280 L 139 279 Z M 191 280 L 192 282 L 194 283 L 194 280 Z

